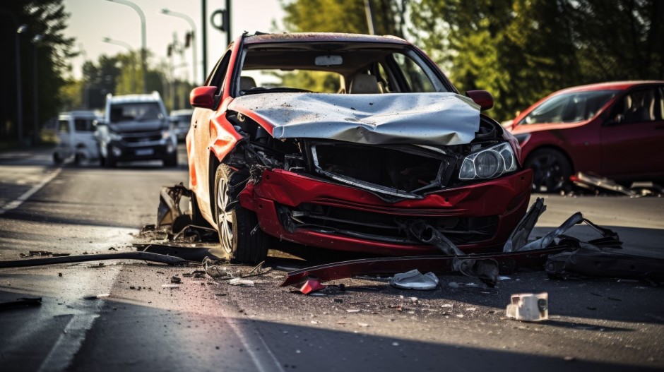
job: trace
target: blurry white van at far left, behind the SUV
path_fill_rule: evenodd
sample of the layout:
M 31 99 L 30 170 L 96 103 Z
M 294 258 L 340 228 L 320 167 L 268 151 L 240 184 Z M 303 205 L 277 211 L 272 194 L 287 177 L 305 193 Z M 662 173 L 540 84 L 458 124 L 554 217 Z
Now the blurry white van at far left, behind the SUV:
M 61 164 L 73 157 L 76 164 L 99 159 L 99 148 L 95 139 L 97 119 L 91 111 L 63 112 L 58 116 L 58 144 L 53 152 L 53 161 Z

